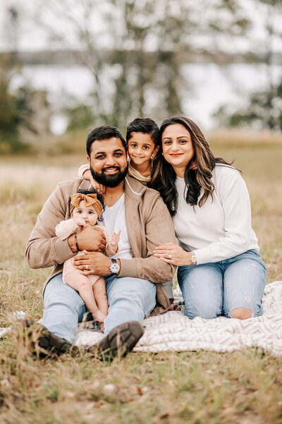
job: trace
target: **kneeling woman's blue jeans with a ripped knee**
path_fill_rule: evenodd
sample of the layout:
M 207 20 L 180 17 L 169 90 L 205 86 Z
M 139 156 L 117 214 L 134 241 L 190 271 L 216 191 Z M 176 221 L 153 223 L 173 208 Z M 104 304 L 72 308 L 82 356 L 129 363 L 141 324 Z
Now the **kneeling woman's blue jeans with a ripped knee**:
M 203 265 L 178 267 L 178 284 L 185 302 L 185 315 L 216 318 L 231 310 L 246 308 L 262 315 L 266 267 L 256 250 L 234 258 Z

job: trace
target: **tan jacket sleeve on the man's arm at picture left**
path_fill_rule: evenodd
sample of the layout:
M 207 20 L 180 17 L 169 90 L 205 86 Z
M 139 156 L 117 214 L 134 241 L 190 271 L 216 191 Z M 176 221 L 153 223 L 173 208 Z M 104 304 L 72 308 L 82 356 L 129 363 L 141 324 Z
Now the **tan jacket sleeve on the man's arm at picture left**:
M 51 267 L 75 255 L 68 240 L 55 234 L 56 225 L 66 217 L 67 205 L 68 198 L 59 184 L 45 202 L 27 241 L 25 258 L 31 268 Z

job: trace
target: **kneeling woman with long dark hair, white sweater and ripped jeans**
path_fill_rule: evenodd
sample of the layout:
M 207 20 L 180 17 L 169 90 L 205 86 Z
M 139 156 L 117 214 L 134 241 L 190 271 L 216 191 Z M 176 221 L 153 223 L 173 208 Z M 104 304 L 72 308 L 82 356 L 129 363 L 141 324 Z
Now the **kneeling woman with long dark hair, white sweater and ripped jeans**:
M 241 320 L 262 315 L 266 267 L 240 172 L 214 157 L 188 118 L 165 119 L 160 138 L 152 187 L 173 217 L 179 246 L 166 243 L 154 255 L 178 265 L 185 315 Z

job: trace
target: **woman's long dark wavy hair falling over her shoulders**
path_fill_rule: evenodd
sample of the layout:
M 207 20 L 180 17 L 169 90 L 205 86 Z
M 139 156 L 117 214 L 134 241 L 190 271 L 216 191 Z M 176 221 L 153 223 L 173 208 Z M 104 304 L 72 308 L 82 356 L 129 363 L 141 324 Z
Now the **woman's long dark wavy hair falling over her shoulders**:
M 214 157 L 212 151 L 209 148 L 207 140 L 204 138 L 204 134 L 195 122 L 191 119 L 185 118 L 184 116 L 173 116 L 173 118 L 165 119 L 161 123 L 159 129 L 159 152 L 154 160 L 152 169 L 152 180 L 150 187 L 158 190 L 161 197 L 164 199 L 168 210 L 173 217 L 177 212 L 178 206 L 178 193 L 176 190 L 176 172 L 174 171 L 171 164 L 166 162 L 162 155 L 161 148 L 161 136 L 164 130 L 171 125 L 180 123 L 190 133 L 195 154 L 188 163 L 184 180 L 186 184 L 185 200 L 188 205 L 204 205 L 209 195 L 213 197 L 214 183 L 212 182 L 212 171 L 216 163 L 223 165 L 232 165 L 233 162 L 226 162 L 221 157 Z M 197 169 L 190 169 L 192 163 L 195 162 Z M 199 200 L 200 190 L 203 189 L 204 193 Z

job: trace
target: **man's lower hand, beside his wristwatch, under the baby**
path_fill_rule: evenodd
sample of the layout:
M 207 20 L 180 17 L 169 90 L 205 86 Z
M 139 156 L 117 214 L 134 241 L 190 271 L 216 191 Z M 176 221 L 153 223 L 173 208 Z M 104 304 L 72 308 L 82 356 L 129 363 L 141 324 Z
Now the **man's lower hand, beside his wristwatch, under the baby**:
M 82 275 L 107 275 L 110 274 L 111 259 L 103 253 L 87 252 L 73 258 L 73 265 Z

